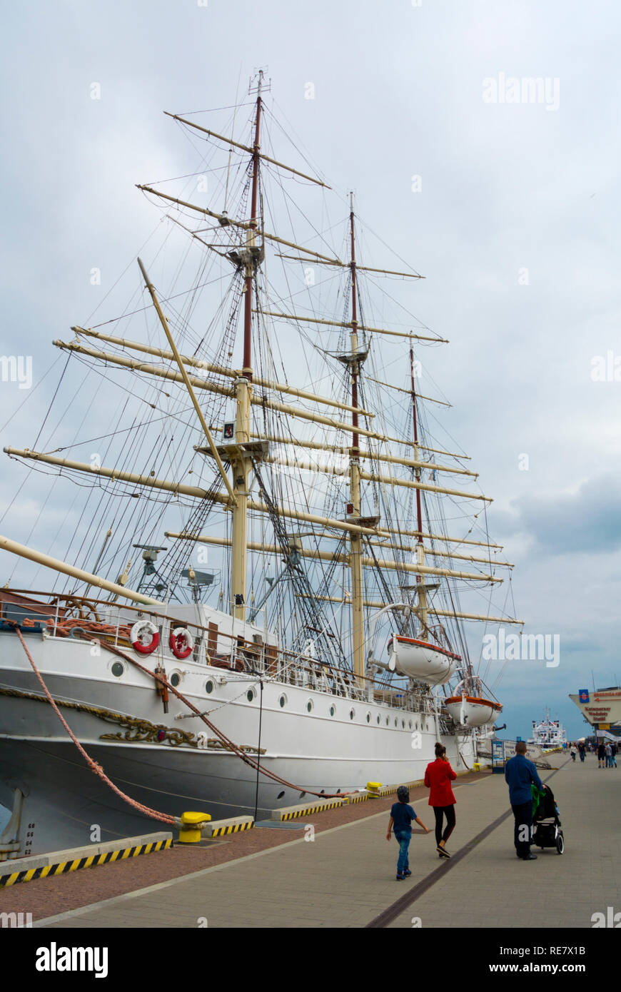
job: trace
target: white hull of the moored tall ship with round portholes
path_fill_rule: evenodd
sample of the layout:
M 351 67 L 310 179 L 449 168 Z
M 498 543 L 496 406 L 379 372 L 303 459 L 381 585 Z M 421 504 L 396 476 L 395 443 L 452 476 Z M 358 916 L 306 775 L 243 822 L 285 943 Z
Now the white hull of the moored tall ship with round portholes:
M 307 791 L 329 795 L 363 788 L 368 781 L 423 778 L 434 758 L 437 725 L 431 712 L 266 680 L 261 763 L 300 789 L 259 776 L 257 796 L 254 769 L 235 754 L 197 746 L 198 734 L 212 736 L 205 724 L 195 716 L 176 719 L 187 709 L 173 695 L 165 714 L 153 680 L 133 666 L 115 678 L 111 666 L 119 659 L 105 646 L 93 657 L 91 645 L 80 640 L 31 634 L 26 641 L 55 699 L 70 703 L 61 706 L 62 715 L 86 752 L 124 793 L 162 812 L 204 810 L 216 819 L 233 811 L 254 814 L 257 803 L 261 817 L 279 806 L 310 801 Z M 117 798 L 86 766 L 53 708 L 41 701 L 41 685 L 16 635 L 0 635 L 0 650 L 0 803 L 12 806 L 16 789 L 24 796 L 11 856 L 163 828 Z M 140 661 L 148 668 L 156 664 L 154 656 Z M 257 679 L 190 660 L 164 661 L 169 679 L 173 672 L 181 675 L 179 689 L 188 700 L 209 710 L 219 730 L 256 755 Z M 253 687 L 251 701 L 246 693 Z M 138 718 L 146 721 L 141 727 Z M 161 742 L 158 726 L 170 733 Z M 172 743 L 180 731 L 187 738 Z M 456 771 L 471 767 L 472 738 L 441 740 Z M 5 851 L 7 839 L 5 831 L 0 842 Z

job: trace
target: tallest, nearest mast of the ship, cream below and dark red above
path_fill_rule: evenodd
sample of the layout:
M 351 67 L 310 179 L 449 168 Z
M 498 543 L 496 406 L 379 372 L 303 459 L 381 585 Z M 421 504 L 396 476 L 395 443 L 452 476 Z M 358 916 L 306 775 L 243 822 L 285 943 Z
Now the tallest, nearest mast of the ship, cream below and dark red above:
M 256 266 L 260 253 L 256 246 L 257 200 L 259 190 L 259 141 L 261 134 L 261 90 L 263 69 L 259 69 L 257 83 L 257 112 L 252 152 L 252 190 L 250 200 L 250 221 L 246 234 L 246 251 L 240 253 L 245 265 L 244 276 L 244 352 L 241 375 L 235 380 L 235 443 L 246 445 L 250 442 L 250 409 L 252 395 L 252 300 Z M 233 492 L 237 504 L 233 506 L 233 543 L 231 549 L 231 599 L 232 613 L 238 620 L 246 619 L 246 585 L 248 558 L 248 477 L 251 459 L 241 450 L 239 457 L 231 461 Z

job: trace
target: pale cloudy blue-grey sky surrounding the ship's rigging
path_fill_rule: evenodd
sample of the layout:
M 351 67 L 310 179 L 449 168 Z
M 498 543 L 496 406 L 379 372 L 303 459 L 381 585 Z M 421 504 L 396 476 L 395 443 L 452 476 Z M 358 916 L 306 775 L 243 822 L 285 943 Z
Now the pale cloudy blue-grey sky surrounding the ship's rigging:
M 621 676 L 620 24 L 604 0 L 5 9 L 0 348 L 33 356 L 37 388 L 19 410 L 30 391 L 1 384 L 2 444 L 34 440 L 52 339 L 86 323 L 152 230 L 134 184 L 179 175 L 161 111 L 229 105 L 268 66 L 313 163 L 427 277 L 408 305 L 451 342 L 433 356 L 446 427 L 495 498 L 490 532 L 516 562 L 525 629 L 559 635 L 558 667 L 506 666 L 509 732 L 550 705 L 581 734 L 567 693 L 591 670 L 598 686 Z M 21 472 L 5 461 L 2 511 Z

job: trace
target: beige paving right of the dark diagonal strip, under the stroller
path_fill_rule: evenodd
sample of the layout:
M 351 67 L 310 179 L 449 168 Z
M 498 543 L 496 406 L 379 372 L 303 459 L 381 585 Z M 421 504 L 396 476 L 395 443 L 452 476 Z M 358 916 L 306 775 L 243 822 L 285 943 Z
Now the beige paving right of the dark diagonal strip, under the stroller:
M 608 906 L 621 910 L 621 771 L 598 770 L 592 755 L 584 764 L 573 765 L 560 755 L 552 763 L 561 765 L 550 785 L 560 810 L 564 853 L 534 847 L 537 861 L 519 861 L 511 817 L 390 927 L 410 928 L 419 918 L 424 928 L 591 928 L 593 913 L 605 914 Z M 549 775 L 543 773 L 542 780 Z M 498 784 L 489 782 L 479 796 L 491 796 Z

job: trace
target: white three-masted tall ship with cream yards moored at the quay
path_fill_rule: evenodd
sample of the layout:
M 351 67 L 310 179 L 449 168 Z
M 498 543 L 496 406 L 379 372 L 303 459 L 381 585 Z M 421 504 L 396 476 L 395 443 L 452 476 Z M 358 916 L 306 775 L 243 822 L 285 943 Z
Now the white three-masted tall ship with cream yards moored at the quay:
M 412 782 L 437 740 L 466 771 L 501 713 L 466 629 L 519 622 L 512 565 L 423 277 L 268 93 L 170 115 L 192 168 L 138 187 L 154 235 L 4 447 L 36 538 L 0 538 L 0 858 Z

